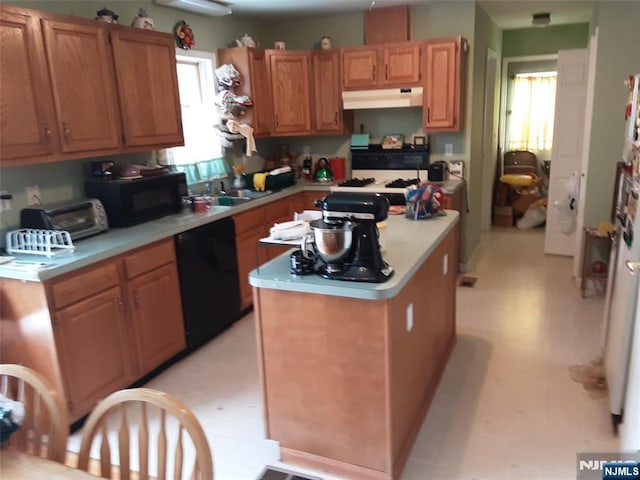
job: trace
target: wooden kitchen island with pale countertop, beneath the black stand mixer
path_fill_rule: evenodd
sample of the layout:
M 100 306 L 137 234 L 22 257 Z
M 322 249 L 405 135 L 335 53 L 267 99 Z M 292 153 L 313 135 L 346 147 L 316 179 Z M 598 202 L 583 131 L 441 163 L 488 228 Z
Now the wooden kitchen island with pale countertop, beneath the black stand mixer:
M 385 283 L 251 272 L 267 437 L 284 462 L 400 478 L 455 343 L 458 212 L 389 217 Z

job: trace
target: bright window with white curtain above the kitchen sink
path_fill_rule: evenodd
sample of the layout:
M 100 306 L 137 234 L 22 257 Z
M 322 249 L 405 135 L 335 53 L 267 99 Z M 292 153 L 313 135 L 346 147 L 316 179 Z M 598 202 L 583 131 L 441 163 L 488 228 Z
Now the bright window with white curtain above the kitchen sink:
M 166 163 L 184 171 L 188 183 L 225 175 L 226 162 L 214 127 L 220 121 L 214 104 L 215 56 L 180 52 L 176 63 L 184 146 L 166 149 Z

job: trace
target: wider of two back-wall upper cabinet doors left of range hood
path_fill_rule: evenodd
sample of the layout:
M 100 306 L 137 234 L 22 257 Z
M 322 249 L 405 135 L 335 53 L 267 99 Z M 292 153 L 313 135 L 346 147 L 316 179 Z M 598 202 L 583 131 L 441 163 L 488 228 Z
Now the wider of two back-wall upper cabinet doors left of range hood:
M 276 50 L 268 53 L 274 133 L 311 133 L 309 55 Z

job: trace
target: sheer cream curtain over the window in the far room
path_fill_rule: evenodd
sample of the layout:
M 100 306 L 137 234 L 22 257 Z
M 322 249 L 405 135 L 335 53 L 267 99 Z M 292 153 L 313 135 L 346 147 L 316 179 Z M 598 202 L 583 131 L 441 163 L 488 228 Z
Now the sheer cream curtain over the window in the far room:
M 556 83 L 556 72 L 520 74 L 513 79 L 507 150 L 551 157 Z

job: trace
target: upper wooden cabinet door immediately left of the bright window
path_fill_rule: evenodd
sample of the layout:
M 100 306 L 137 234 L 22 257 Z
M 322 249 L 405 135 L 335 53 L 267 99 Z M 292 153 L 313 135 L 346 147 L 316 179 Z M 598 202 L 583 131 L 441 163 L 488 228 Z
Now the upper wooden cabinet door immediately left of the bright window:
M 116 30 L 111 43 L 124 143 L 184 145 L 173 37 Z

